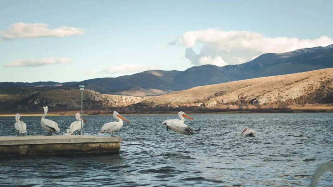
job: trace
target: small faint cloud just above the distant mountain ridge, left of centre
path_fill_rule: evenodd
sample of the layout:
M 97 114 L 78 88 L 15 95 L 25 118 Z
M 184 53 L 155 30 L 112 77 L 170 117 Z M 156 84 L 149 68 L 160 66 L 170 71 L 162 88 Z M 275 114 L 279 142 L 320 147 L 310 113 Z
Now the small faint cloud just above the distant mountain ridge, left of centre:
M 118 66 L 113 66 L 111 68 L 101 71 L 102 73 L 115 74 L 115 73 L 129 73 L 129 72 L 143 72 L 147 70 L 152 70 L 152 66 L 142 66 L 137 64 L 123 64 Z

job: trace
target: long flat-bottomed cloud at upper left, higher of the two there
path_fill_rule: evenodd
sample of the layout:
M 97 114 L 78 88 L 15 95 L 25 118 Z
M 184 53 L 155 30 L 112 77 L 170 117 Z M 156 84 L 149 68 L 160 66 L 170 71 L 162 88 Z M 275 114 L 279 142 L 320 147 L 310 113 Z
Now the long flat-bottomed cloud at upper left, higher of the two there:
M 84 34 L 83 28 L 61 26 L 56 29 L 47 28 L 44 23 L 14 23 L 2 33 L 3 39 L 38 38 L 38 37 L 66 37 Z

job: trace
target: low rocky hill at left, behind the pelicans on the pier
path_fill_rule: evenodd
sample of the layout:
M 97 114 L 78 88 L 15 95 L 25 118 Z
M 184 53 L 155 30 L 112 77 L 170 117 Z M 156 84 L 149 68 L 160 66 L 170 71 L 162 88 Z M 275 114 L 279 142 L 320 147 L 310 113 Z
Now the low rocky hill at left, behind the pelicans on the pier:
M 100 94 L 88 89 L 83 92 L 83 103 L 87 109 L 127 106 L 148 98 Z M 19 107 L 17 109 L 33 109 L 44 105 L 59 109 L 78 109 L 81 107 L 81 92 L 78 89 L 15 90 L 6 94 L 0 93 L 0 104 L 3 109 L 14 109 L 17 107 Z

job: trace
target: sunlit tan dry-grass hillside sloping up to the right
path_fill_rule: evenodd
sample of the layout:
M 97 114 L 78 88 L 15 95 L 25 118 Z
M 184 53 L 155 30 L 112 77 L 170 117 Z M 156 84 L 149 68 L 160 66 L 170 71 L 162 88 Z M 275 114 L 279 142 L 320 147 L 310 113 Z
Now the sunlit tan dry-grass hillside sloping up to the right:
M 143 101 L 149 105 L 333 102 L 333 68 L 194 87 Z

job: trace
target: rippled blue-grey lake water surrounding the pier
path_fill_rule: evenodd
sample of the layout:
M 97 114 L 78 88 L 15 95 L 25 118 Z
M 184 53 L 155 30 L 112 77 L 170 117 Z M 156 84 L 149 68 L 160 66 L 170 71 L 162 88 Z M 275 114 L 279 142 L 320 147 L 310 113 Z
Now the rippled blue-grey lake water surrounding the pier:
M 119 154 L 0 159 L 0 186 L 309 186 L 315 169 L 333 160 L 332 113 L 192 114 L 193 136 L 166 131 L 177 115 L 127 115 Z M 61 134 L 74 116 L 47 116 Z M 84 116 L 97 135 L 112 116 Z M 21 117 L 29 135 L 47 134 L 40 117 Z M 15 117 L 0 117 L 0 135 L 14 136 Z M 245 126 L 256 137 L 240 135 Z M 55 133 L 57 134 L 57 133 Z M 101 134 L 108 135 L 108 134 Z M 318 186 L 333 186 L 326 172 Z

